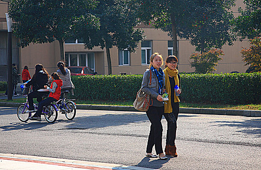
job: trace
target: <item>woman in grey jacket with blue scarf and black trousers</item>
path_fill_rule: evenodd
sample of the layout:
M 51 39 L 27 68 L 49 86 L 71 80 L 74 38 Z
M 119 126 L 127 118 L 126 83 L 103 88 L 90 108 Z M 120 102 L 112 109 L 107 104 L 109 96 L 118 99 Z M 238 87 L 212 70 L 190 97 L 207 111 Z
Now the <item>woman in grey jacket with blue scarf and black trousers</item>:
M 150 57 L 149 68 L 143 74 L 142 80 L 142 91 L 149 95 L 152 100 L 150 103 L 147 113 L 147 117 L 151 122 L 150 132 L 147 142 L 146 156 L 156 158 L 159 156 L 160 159 L 167 159 L 162 149 L 162 123 L 161 119 L 164 113 L 164 104 L 162 94 L 165 86 L 165 74 L 161 66 L 163 65 L 162 55 L 154 53 Z M 151 84 L 150 82 L 151 74 Z M 156 154 L 152 154 L 152 148 L 155 145 Z

